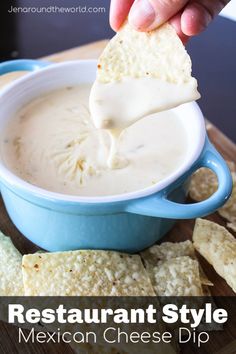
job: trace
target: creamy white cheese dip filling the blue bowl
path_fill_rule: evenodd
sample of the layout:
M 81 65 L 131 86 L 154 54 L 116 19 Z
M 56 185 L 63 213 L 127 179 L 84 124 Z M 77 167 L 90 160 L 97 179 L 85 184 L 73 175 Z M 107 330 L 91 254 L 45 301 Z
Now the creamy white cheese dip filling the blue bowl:
M 128 163 L 110 169 L 111 139 L 106 130 L 94 127 L 88 108 L 90 89 L 90 85 L 59 89 L 23 107 L 3 132 L 5 165 L 49 191 L 105 196 L 149 187 L 183 164 L 188 139 L 181 120 L 170 110 L 124 130 L 116 150 Z

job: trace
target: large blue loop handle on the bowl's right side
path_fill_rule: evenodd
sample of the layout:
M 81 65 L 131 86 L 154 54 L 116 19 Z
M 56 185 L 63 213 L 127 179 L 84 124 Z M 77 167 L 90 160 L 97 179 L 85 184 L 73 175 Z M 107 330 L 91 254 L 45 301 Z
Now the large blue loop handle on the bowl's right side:
M 192 204 L 181 204 L 168 200 L 168 195 L 193 172 L 200 167 L 211 169 L 217 176 L 218 189 L 208 199 Z M 218 153 L 206 138 L 205 147 L 201 157 L 194 164 L 192 169 L 180 180 L 176 181 L 170 188 L 143 199 L 136 199 L 127 205 L 126 211 L 135 214 L 170 218 L 170 219 L 192 219 L 213 213 L 221 207 L 232 192 L 232 177 L 230 170 Z

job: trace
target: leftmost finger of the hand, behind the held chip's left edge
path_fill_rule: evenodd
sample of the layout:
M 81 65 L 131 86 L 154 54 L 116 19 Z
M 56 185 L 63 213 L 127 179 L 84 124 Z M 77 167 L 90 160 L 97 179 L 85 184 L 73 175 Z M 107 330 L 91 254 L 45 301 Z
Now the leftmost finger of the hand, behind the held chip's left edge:
M 127 19 L 133 2 L 134 0 L 111 0 L 110 25 L 114 31 L 118 31 Z

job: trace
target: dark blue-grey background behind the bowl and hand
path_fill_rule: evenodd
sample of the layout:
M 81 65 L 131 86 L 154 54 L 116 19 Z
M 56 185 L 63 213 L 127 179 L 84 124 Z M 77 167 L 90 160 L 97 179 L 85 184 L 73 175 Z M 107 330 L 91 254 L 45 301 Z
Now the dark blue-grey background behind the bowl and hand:
M 0 0 L 0 60 L 37 58 L 113 35 L 110 0 Z M 101 6 L 99 14 L 9 14 L 11 6 Z M 204 115 L 236 142 L 236 22 L 218 17 L 187 49 Z

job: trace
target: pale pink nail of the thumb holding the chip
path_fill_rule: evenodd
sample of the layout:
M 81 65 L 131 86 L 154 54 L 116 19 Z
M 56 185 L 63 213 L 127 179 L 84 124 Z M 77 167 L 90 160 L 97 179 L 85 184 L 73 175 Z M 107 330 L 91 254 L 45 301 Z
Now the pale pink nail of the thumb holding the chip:
M 136 29 L 146 29 L 153 23 L 155 17 L 150 1 L 136 0 L 129 13 L 129 23 Z

